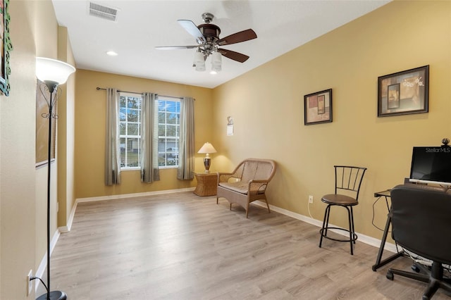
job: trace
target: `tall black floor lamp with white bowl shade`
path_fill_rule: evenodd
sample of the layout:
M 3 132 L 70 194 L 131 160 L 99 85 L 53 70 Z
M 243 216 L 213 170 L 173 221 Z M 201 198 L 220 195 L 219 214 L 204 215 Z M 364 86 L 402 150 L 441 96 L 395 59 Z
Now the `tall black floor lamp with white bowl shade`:
M 47 149 L 47 289 L 46 294 L 42 294 L 38 300 L 64 300 L 67 299 L 66 293 L 61 291 L 50 292 L 50 162 L 51 162 L 51 119 L 58 118 L 55 104 L 58 100 L 58 85 L 63 84 L 68 80 L 70 74 L 75 72 L 75 68 L 72 65 L 63 63 L 62 61 L 56 61 L 51 58 L 36 58 L 36 77 L 43 83 L 39 86 L 40 92 L 47 101 L 49 106 L 49 113 L 43 113 L 42 118 L 49 119 L 49 148 Z M 61 89 L 59 89 L 61 91 Z M 47 95 L 49 94 L 49 99 Z

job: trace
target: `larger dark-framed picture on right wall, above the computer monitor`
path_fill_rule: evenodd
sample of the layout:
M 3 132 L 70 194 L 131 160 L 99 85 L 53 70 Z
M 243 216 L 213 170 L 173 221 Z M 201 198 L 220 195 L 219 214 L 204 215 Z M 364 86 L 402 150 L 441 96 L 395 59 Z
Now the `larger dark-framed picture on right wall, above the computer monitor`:
M 429 65 L 378 77 L 378 117 L 428 112 Z

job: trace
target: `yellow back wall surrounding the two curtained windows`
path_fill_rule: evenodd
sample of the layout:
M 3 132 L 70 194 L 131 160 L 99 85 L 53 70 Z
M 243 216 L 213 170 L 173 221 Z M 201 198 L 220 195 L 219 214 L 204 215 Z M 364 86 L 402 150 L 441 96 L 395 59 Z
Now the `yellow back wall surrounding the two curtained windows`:
M 154 192 L 194 187 L 195 180 L 177 180 L 177 169 L 160 170 L 161 180 L 142 183 L 139 170 L 121 173 L 121 185 L 104 183 L 106 92 L 97 87 L 116 87 L 128 92 L 154 92 L 166 96 L 191 96 L 194 103 L 196 149 L 213 136 L 212 90 L 137 77 L 78 70 L 75 87 L 75 195 L 77 198 Z M 202 170 L 202 156 L 196 168 Z

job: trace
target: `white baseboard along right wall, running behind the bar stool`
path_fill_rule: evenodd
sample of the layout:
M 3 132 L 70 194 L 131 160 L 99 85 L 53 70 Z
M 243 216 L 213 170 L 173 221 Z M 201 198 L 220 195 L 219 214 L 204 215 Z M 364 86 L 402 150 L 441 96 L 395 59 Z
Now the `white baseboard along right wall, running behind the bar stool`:
M 262 201 L 254 201 L 254 204 L 257 204 L 259 206 L 266 208 L 266 203 Z M 316 220 L 314 218 L 309 218 L 305 215 L 300 215 L 299 213 L 293 213 L 292 211 L 287 211 L 286 209 L 279 208 L 277 206 L 269 205 L 269 208 L 273 211 L 276 211 L 278 213 L 282 213 L 283 215 L 288 215 L 291 218 L 295 218 L 297 220 L 302 220 L 305 223 L 309 223 L 311 225 L 315 225 L 318 227 L 323 226 L 323 222 L 320 220 Z M 337 225 L 330 224 L 332 227 L 339 227 Z M 346 236 L 346 232 L 343 232 L 342 230 L 331 230 L 333 232 L 338 233 L 339 235 Z M 379 248 L 381 246 L 381 239 L 375 239 L 374 237 L 369 237 L 368 235 L 362 235 L 362 233 L 356 232 L 356 234 L 359 236 L 359 241 L 365 244 L 369 244 L 371 246 L 375 246 L 376 248 Z M 397 253 L 396 245 L 392 243 L 385 242 L 384 251 L 390 251 L 393 253 Z

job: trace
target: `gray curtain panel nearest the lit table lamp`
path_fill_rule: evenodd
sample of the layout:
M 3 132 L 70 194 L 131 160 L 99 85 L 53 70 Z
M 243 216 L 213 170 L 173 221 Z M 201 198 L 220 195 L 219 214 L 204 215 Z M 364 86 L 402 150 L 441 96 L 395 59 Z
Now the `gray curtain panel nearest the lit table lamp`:
M 194 99 L 180 100 L 180 143 L 177 179 L 192 180 L 194 175 Z

